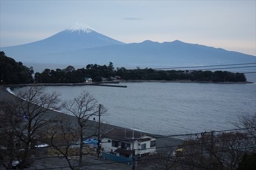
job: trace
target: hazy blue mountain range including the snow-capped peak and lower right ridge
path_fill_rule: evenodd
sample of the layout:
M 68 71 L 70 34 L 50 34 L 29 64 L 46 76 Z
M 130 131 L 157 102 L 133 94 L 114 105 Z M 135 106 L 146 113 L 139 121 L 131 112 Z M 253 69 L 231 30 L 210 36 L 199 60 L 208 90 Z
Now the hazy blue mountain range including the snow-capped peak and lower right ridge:
M 49 38 L 1 50 L 23 63 L 191 66 L 255 63 L 254 55 L 179 40 L 125 44 L 102 35 L 85 24 L 75 24 Z

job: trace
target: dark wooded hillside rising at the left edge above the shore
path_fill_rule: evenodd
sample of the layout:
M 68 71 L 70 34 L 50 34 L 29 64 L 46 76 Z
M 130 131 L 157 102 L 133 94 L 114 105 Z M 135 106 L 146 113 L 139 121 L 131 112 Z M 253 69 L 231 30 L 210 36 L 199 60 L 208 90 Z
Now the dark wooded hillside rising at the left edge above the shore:
M 0 51 L 0 84 L 32 83 L 33 68 L 7 57 Z

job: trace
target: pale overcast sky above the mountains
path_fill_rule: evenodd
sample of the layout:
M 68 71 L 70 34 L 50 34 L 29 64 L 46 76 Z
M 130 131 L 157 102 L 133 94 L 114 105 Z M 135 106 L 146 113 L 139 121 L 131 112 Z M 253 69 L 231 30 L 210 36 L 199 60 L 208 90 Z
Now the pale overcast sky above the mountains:
M 203 44 L 256 54 L 256 1 L 3 1 L 1 47 L 50 37 L 76 22 L 124 43 Z

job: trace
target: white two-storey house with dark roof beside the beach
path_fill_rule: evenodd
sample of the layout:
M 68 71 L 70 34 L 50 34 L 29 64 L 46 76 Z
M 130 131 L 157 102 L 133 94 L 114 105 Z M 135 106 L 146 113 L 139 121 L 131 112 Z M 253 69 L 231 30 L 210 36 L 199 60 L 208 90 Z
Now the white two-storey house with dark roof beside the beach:
M 156 138 L 140 131 L 113 128 L 102 135 L 101 142 L 104 152 L 110 152 L 116 156 L 132 157 L 132 145 L 135 156 L 156 152 Z

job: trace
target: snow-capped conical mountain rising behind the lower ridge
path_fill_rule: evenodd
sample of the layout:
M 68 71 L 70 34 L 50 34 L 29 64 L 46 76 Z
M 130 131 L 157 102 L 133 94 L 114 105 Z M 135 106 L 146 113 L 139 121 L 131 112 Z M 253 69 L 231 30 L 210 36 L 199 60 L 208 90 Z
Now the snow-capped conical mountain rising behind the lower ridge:
M 42 54 L 122 44 L 125 43 L 100 34 L 86 24 L 76 23 L 72 27 L 46 39 L 28 44 L 4 47 L 1 50 L 14 59 L 26 61 L 27 59 L 38 59 L 38 56 L 42 56 Z

